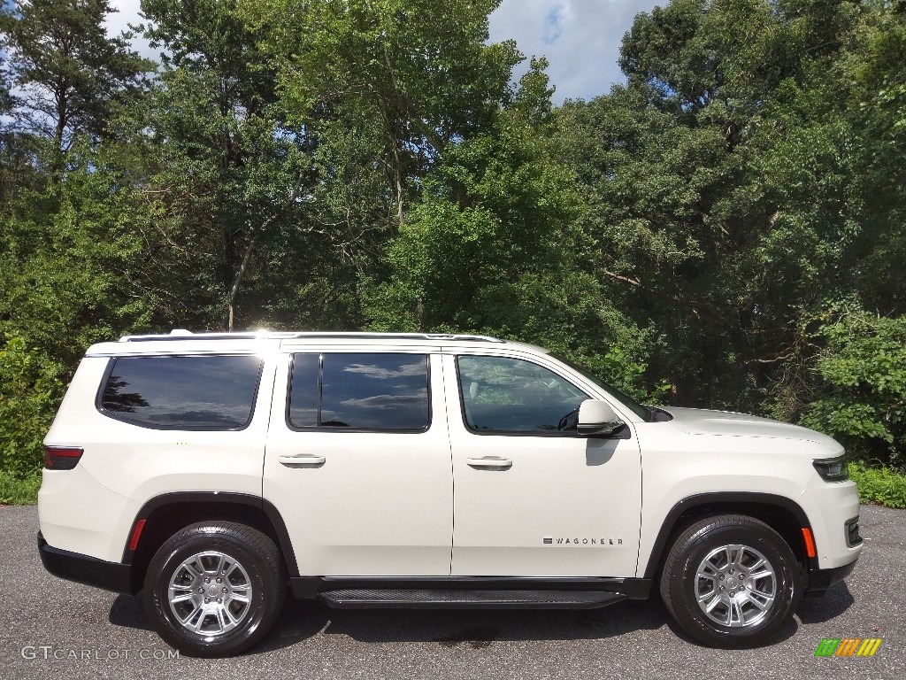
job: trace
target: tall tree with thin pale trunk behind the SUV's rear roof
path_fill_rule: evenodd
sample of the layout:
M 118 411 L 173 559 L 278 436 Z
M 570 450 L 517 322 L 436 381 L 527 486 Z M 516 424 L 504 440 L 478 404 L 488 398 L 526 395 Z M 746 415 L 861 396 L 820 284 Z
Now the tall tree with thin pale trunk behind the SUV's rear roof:
M 134 226 L 155 244 L 161 316 L 228 330 L 350 325 L 341 291 L 354 274 L 337 265 L 339 229 L 319 219 L 315 143 L 287 121 L 262 32 L 236 2 L 142 6 L 166 56 L 124 124 L 146 164 Z M 325 296 L 331 278 L 337 292 Z

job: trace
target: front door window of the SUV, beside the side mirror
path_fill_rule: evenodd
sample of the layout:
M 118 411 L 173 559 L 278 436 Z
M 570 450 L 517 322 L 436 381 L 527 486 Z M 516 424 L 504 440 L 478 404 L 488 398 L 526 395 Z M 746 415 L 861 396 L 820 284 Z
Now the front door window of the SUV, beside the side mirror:
M 578 387 L 544 366 L 503 356 L 457 358 L 466 424 L 475 432 L 574 432 Z

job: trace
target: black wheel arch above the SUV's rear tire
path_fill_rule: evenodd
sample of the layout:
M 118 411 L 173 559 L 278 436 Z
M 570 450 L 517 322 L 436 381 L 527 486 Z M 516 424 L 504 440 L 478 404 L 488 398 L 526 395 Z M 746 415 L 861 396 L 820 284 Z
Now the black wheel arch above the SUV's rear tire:
M 122 563 L 130 565 L 133 594 L 144 586 L 151 559 L 164 541 L 179 529 L 199 521 L 234 521 L 258 529 L 280 549 L 286 573 L 299 576 L 292 541 L 280 511 L 273 503 L 246 493 L 222 491 L 184 491 L 165 493 L 148 500 L 132 520 L 129 540 L 123 548 Z M 139 523 L 144 521 L 136 549 L 130 540 Z

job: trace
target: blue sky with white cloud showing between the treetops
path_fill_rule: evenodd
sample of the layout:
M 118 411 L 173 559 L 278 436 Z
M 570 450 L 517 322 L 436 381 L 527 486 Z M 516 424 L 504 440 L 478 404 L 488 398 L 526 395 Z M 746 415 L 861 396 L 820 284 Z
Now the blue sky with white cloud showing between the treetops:
M 545 56 L 554 103 L 565 99 L 591 99 L 610 92 L 613 83 L 625 79 L 617 65 L 623 34 L 639 12 L 650 12 L 666 0 L 503 0 L 490 16 L 490 38 L 516 40 L 525 54 L 525 64 L 516 68 L 516 78 L 525 72 L 528 58 Z M 113 32 L 140 22 L 139 0 L 112 0 L 120 12 L 111 15 Z M 140 38 L 134 41 L 140 53 L 156 57 Z

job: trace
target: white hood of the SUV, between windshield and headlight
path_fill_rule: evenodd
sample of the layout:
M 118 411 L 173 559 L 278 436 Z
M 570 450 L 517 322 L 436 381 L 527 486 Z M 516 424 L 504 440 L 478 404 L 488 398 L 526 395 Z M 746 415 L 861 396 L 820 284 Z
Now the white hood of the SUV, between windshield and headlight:
M 660 409 L 673 416 L 673 424 L 689 434 L 724 434 L 731 437 L 773 437 L 775 439 L 797 439 L 815 442 L 834 452 L 843 447 L 821 432 L 814 432 L 799 425 L 781 423 L 770 418 L 761 418 L 747 413 L 730 411 L 705 411 L 703 409 L 673 408 Z

